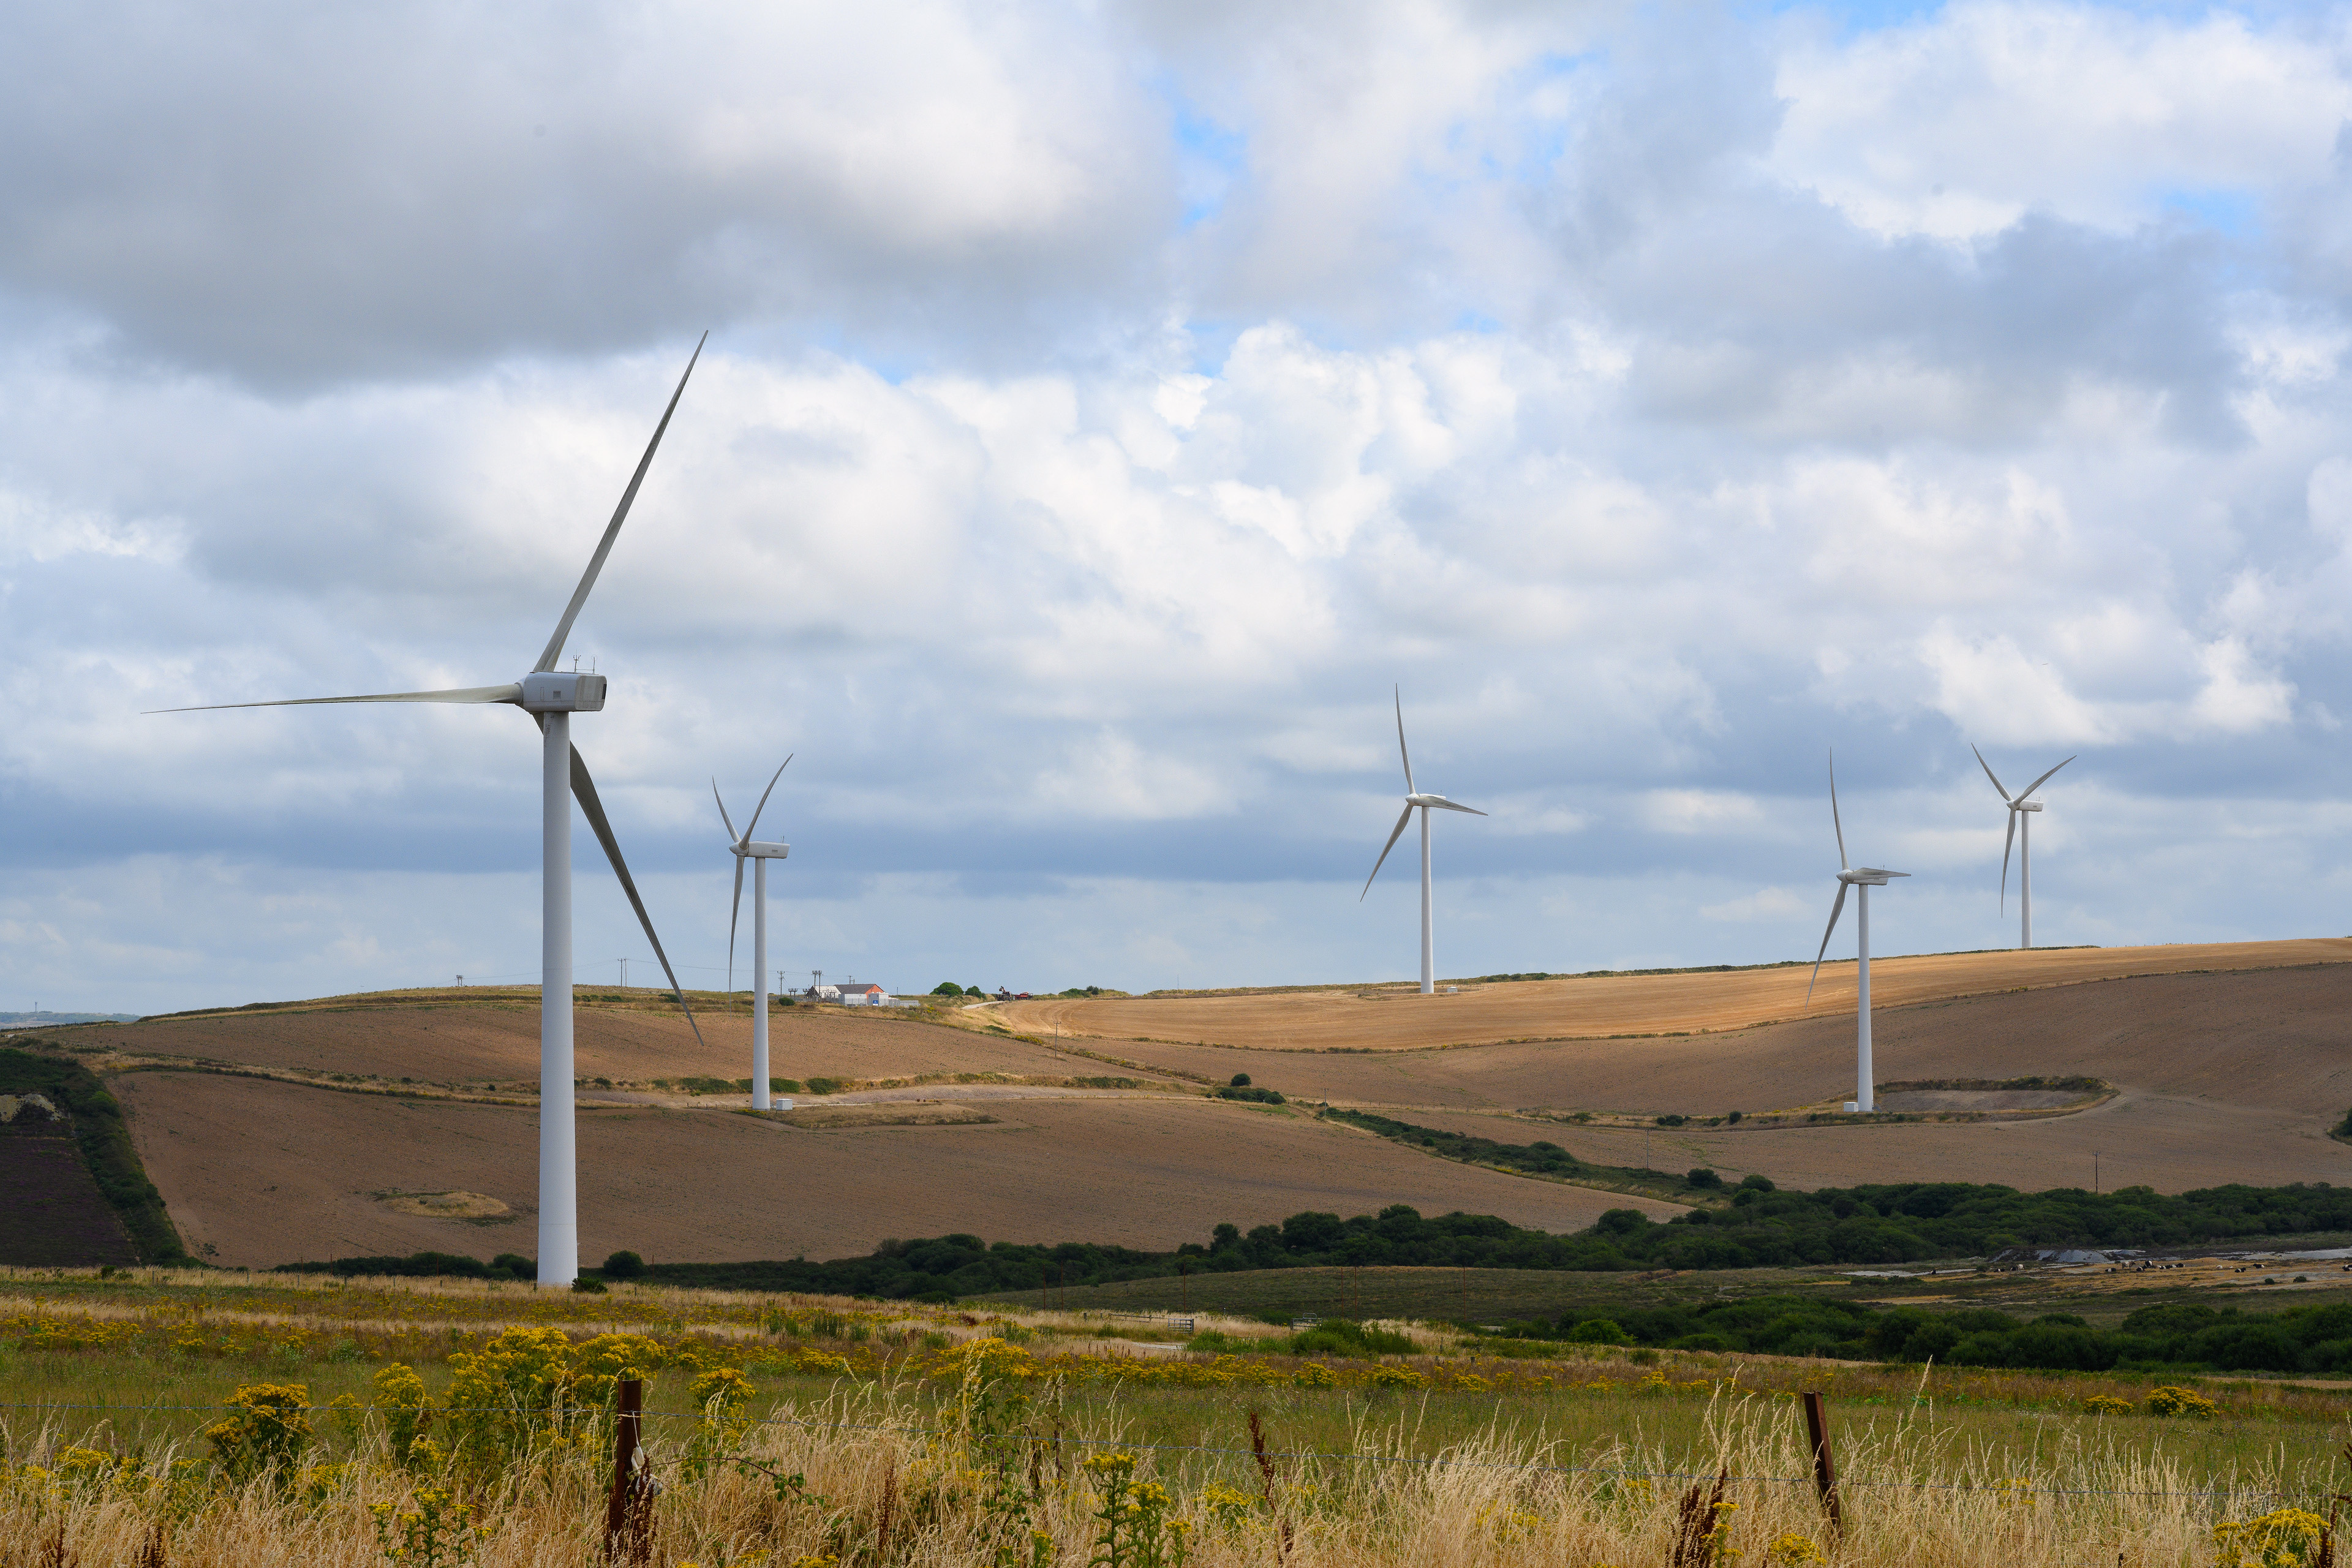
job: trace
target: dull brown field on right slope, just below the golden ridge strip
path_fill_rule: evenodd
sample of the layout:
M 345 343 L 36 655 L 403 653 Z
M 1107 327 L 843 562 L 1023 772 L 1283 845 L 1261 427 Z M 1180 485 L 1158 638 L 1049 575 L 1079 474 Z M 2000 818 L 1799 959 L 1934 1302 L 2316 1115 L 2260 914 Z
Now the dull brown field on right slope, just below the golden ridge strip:
M 2152 976 L 2002 992 L 1872 1020 L 1879 1081 L 2086 1074 L 2119 1093 L 2039 1121 L 1785 1128 L 1588 1128 L 1496 1110 L 1719 1117 L 1853 1093 L 1853 1013 L 1736 1034 L 1573 1039 L 1376 1056 L 1127 1044 L 1183 1072 L 1249 1072 L 1294 1095 L 1362 1105 L 1581 1159 L 1759 1171 L 1790 1187 L 1969 1180 L 2183 1192 L 2223 1182 L 2352 1182 L 2326 1131 L 2352 1107 L 2352 969 Z M 1451 1112 L 1451 1114 L 1449 1114 Z

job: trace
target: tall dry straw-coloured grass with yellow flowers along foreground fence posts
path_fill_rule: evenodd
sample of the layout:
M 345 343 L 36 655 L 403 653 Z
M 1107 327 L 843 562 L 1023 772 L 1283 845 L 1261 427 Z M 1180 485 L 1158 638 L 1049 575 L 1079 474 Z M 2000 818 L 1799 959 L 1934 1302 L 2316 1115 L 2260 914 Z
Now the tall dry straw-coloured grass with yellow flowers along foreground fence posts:
M 943 1410 L 908 1385 L 844 1382 L 774 1406 L 701 1476 L 689 1450 L 696 1425 L 654 1427 L 666 1490 L 647 1561 L 1077 1568 L 1101 1559 L 1110 1481 L 1101 1460 L 1122 1450 L 1134 1422 L 1117 1406 L 1058 1403 L 1051 1387 L 1014 1392 L 1009 1406 L 967 1399 Z M 362 1429 L 336 1465 L 245 1486 L 181 1467 L 176 1488 L 167 1479 L 174 1460 L 195 1458 L 188 1450 L 155 1448 L 120 1472 L 82 1460 L 78 1472 L 68 1448 L 99 1450 L 103 1432 L 0 1427 L 0 1563 L 9 1566 L 372 1568 L 388 1559 L 369 1505 L 414 1507 L 419 1488 L 442 1486 L 487 1530 L 445 1563 L 604 1561 L 602 1443 L 532 1455 L 466 1490 L 454 1472 L 402 1472 L 381 1429 Z M 1905 1568 L 2204 1568 L 2216 1561 L 2216 1523 L 2340 1486 L 2284 1453 L 2190 1476 L 2136 1453 L 2122 1429 L 2074 1432 L 2018 1460 L 1964 1432 L 1898 1422 L 1842 1446 L 1839 1535 L 1813 1497 L 1788 1399 L 1724 1394 L 1708 1408 L 1703 1443 L 1672 1453 L 1642 1441 L 1571 1448 L 1496 1425 L 1435 1460 L 1404 1462 L 1425 1439 L 1411 1401 L 1355 1420 L 1348 1450 L 1362 1458 L 1291 1453 L 1279 1415 L 1263 1462 L 1247 1427 L 1235 1422 L 1228 1439 L 1214 1443 L 1221 1450 L 1134 1450 L 1136 1479 L 1164 1488 L 1164 1519 L 1200 1568 L 1759 1568 L 1811 1561 L 1809 1547 L 1832 1563 Z M 1708 1507 L 1717 1474 L 1724 1509 Z

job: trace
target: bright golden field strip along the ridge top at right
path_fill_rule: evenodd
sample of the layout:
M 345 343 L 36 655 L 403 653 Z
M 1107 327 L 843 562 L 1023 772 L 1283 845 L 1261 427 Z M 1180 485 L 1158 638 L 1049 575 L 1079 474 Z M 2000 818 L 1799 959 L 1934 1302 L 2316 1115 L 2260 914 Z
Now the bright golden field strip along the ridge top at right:
M 2352 961 L 2352 938 L 1952 952 L 1872 959 L 1870 990 L 1879 1006 L 1910 1006 L 2124 976 L 2345 961 Z M 1185 1039 L 1258 1051 L 1411 1051 L 1508 1039 L 1719 1032 L 1818 1013 L 1853 1013 L 1851 959 L 1820 966 L 1811 1001 L 1806 1001 L 1809 976 L 1809 964 L 1790 964 L 1463 985 L 1451 997 L 1423 997 L 1409 987 L 1232 997 L 1047 997 L 1007 1001 L 995 1011 L 1023 1034 Z

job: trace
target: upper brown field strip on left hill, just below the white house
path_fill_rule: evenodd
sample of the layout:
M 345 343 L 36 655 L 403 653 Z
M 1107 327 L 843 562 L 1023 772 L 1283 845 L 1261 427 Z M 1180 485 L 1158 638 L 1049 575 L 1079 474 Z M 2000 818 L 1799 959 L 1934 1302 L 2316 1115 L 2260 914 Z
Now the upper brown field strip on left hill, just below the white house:
M 696 1009 L 703 1041 L 675 1006 L 630 999 L 574 1001 L 581 1077 L 746 1077 L 750 1013 Z M 270 1011 L 155 1018 L 56 1030 L 59 1044 L 129 1056 L 214 1060 L 299 1072 L 348 1072 L 428 1084 L 539 1081 L 536 992 L 379 992 L 325 997 Z M 1018 1039 L 946 1030 L 908 1013 L 776 1009 L 769 1013 L 776 1077 L 915 1077 L 924 1072 L 1096 1074 L 1087 1058 Z

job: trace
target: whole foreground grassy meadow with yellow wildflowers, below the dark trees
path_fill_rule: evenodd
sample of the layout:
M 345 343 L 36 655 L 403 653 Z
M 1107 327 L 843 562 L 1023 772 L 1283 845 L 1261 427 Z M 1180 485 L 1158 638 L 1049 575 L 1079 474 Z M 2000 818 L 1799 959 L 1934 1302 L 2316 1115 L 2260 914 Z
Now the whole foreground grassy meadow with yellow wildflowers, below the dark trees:
M 393 1542 L 423 1526 L 485 1568 L 595 1561 L 623 1368 L 652 1380 L 663 1563 L 1082 1563 L 1134 1483 L 1157 1490 L 1129 1523 L 1162 1547 L 1183 1526 L 1204 1568 L 1668 1561 L 1717 1469 L 1719 1561 L 1806 1561 L 1797 1537 L 1952 1568 L 2204 1563 L 2218 1530 L 2352 1481 L 2343 1389 L 2206 1380 L 2187 1408 L 2211 1415 L 2161 1415 L 2145 1375 L 1200 1328 L 1183 1352 L 1152 1347 L 1164 1321 L 1073 1312 L 12 1272 L 0 1556 L 358 1568 L 386 1561 L 381 1507 Z M 1828 1399 L 1842 1537 L 1797 1389 Z

